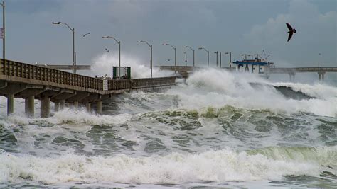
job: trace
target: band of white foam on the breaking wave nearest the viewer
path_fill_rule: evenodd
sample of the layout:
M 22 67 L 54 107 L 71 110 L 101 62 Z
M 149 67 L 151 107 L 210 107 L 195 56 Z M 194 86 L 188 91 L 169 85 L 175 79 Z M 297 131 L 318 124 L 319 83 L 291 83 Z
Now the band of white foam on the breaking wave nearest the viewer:
M 204 181 L 279 181 L 282 176 L 316 176 L 336 171 L 336 147 L 311 148 L 306 153 L 250 154 L 232 149 L 166 156 L 88 157 L 65 154 L 41 158 L 0 154 L 0 183 L 23 180 L 45 184 L 82 183 L 197 183 Z M 262 151 L 263 152 L 263 151 Z M 298 157 L 299 156 L 299 157 Z M 328 160 L 328 161 L 327 161 Z M 328 164 L 327 162 L 332 162 Z M 327 167 L 329 166 L 329 167 Z

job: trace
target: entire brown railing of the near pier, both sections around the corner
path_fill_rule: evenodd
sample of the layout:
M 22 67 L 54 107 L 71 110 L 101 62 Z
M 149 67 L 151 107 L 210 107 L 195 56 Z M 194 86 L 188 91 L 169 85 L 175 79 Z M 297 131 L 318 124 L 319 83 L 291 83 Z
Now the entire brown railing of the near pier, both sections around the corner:
M 32 80 L 48 81 L 55 84 L 77 86 L 88 89 L 103 90 L 103 80 L 90 76 L 72 74 L 67 71 L 50 69 L 38 65 L 25 64 L 7 59 L 0 59 L 0 75 L 9 76 L 11 81 L 25 82 L 30 84 Z M 18 80 L 18 78 L 20 80 Z M 24 79 L 24 80 L 22 80 Z M 122 90 L 132 88 L 146 88 L 156 86 L 167 86 L 175 84 L 176 77 L 159 77 L 145 79 L 109 79 L 108 90 Z M 49 83 L 50 84 L 50 83 Z

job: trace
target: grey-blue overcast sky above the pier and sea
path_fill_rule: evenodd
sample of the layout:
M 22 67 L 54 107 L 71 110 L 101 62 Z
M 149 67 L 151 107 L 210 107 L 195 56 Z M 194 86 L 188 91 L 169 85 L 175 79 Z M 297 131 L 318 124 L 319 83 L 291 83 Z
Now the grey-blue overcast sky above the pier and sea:
M 215 51 L 240 54 L 271 54 L 277 67 L 316 67 L 318 53 L 321 66 L 337 65 L 336 0 L 223 0 L 223 1 L 6 1 L 6 58 L 20 62 L 71 64 L 72 35 L 62 21 L 75 28 L 77 64 L 93 64 L 102 55 L 118 55 L 118 45 L 111 35 L 122 41 L 122 64 L 128 58 L 141 64 L 149 62 L 149 47 L 154 47 L 154 64 L 173 64 L 177 47 L 178 64 L 184 64 L 183 52 L 189 45 L 196 49 L 196 64 L 215 64 Z M 287 42 L 286 22 L 297 33 Z M 85 38 L 85 33 L 90 32 Z M 116 59 L 117 60 L 117 59 Z M 228 56 L 223 55 L 223 64 Z M 115 62 L 117 65 L 117 62 Z

